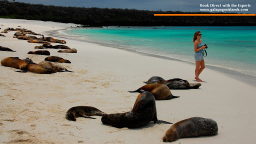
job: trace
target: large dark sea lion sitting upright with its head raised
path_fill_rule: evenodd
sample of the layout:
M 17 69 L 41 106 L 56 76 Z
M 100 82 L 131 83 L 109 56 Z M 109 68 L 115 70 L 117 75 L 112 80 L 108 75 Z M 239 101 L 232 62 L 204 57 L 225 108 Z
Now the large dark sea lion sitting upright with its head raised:
M 172 124 L 158 120 L 156 116 L 155 98 L 150 92 L 138 94 L 131 111 L 123 113 L 106 114 L 101 117 L 103 124 L 117 128 L 136 128 L 146 125 L 149 121 L 157 124 Z

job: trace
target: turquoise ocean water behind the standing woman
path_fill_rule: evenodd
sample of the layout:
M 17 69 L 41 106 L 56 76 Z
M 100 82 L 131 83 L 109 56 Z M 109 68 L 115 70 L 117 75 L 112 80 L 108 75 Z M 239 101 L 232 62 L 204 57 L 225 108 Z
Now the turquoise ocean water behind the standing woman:
M 194 62 L 192 38 L 198 30 L 208 46 L 206 65 L 256 75 L 256 26 L 109 26 L 58 32 L 67 38 Z

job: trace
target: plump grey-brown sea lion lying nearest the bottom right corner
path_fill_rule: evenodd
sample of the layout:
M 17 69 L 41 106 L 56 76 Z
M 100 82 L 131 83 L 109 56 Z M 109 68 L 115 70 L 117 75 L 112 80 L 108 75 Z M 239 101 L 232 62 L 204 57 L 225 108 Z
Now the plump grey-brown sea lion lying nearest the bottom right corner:
M 178 121 L 170 126 L 162 138 L 163 142 L 174 141 L 180 137 L 215 135 L 217 123 L 210 118 L 191 117 Z

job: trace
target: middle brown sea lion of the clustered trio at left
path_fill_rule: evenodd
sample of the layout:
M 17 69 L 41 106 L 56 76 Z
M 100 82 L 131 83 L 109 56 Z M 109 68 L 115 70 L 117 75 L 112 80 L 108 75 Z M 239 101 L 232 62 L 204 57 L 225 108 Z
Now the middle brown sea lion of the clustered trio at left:
M 14 71 L 16 71 L 16 70 L 14 70 Z M 27 71 L 34 72 L 34 73 L 40 73 L 40 74 L 53 73 L 50 69 L 43 68 L 41 65 L 33 63 L 33 62 L 27 63 L 24 70 L 19 70 L 16 72 L 27 72 Z

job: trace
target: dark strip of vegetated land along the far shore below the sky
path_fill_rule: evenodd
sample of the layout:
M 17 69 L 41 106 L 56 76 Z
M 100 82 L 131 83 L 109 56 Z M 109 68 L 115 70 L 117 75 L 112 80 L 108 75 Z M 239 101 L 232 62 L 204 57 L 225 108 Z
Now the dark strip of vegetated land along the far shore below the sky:
M 170 13 L 209 13 L 149 11 L 120 8 L 66 7 L 0 0 L 0 18 L 19 18 L 89 26 L 202 26 L 256 25 L 256 16 L 154 16 Z

